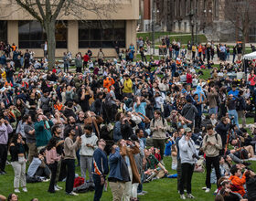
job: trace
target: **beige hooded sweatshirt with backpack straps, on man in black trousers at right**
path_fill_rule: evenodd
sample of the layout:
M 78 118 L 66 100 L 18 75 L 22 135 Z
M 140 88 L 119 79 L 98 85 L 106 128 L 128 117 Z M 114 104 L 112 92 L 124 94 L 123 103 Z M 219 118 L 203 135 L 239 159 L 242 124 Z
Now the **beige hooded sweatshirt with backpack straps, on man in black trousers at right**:
M 208 142 L 212 143 L 213 145 L 208 145 Z M 217 133 L 208 135 L 207 133 L 203 139 L 202 149 L 204 150 L 204 153 L 206 153 L 208 157 L 218 156 L 219 150 L 222 149 L 222 141 L 220 135 Z

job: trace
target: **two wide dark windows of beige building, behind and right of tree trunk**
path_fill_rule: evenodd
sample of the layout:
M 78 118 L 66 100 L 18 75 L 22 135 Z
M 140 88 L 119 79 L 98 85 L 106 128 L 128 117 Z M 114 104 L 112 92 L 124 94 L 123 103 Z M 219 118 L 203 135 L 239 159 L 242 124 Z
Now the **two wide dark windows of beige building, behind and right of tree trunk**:
M 56 48 L 67 48 L 68 22 L 56 23 Z M 46 32 L 37 21 L 18 22 L 19 48 L 42 48 Z M 125 47 L 125 21 L 80 21 L 79 48 L 113 48 L 117 41 Z

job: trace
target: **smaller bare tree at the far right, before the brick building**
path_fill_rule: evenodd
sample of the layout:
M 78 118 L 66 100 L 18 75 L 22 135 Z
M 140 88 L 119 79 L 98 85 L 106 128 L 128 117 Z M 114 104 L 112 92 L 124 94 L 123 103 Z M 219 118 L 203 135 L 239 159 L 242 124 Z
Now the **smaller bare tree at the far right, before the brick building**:
M 224 14 L 234 26 L 237 36 L 241 36 L 242 51 L 245 53 L 245 43 L 248 42 L 250 26 L 256 17 L 255 0 L 226 0 Z

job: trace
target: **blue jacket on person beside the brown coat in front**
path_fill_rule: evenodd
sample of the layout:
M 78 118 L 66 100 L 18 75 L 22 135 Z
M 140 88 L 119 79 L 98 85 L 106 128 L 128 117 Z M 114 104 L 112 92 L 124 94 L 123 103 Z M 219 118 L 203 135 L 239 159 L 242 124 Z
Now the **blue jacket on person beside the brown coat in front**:
M 116 178 L 118 180 L 123 181 L 123 176 L 121 175 L 121 168 L 122 168 L 121 160 L 123 160 L 123 157 L 120 154 L 119 147 L 117 147 L 115 149 L 115 153 L 111 153 L 109 157 L 109 164 L 110 164 L 109 178 Z

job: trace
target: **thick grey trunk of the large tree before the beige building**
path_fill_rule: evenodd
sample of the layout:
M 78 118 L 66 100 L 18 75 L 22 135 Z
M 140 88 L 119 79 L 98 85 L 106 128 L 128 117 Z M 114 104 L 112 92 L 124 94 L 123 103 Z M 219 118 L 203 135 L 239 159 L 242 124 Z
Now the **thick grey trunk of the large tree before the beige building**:
M 55 66 L 55 20 L 46 23 L 46 33 L 48 38 L 48 69 L 51 70 Z

